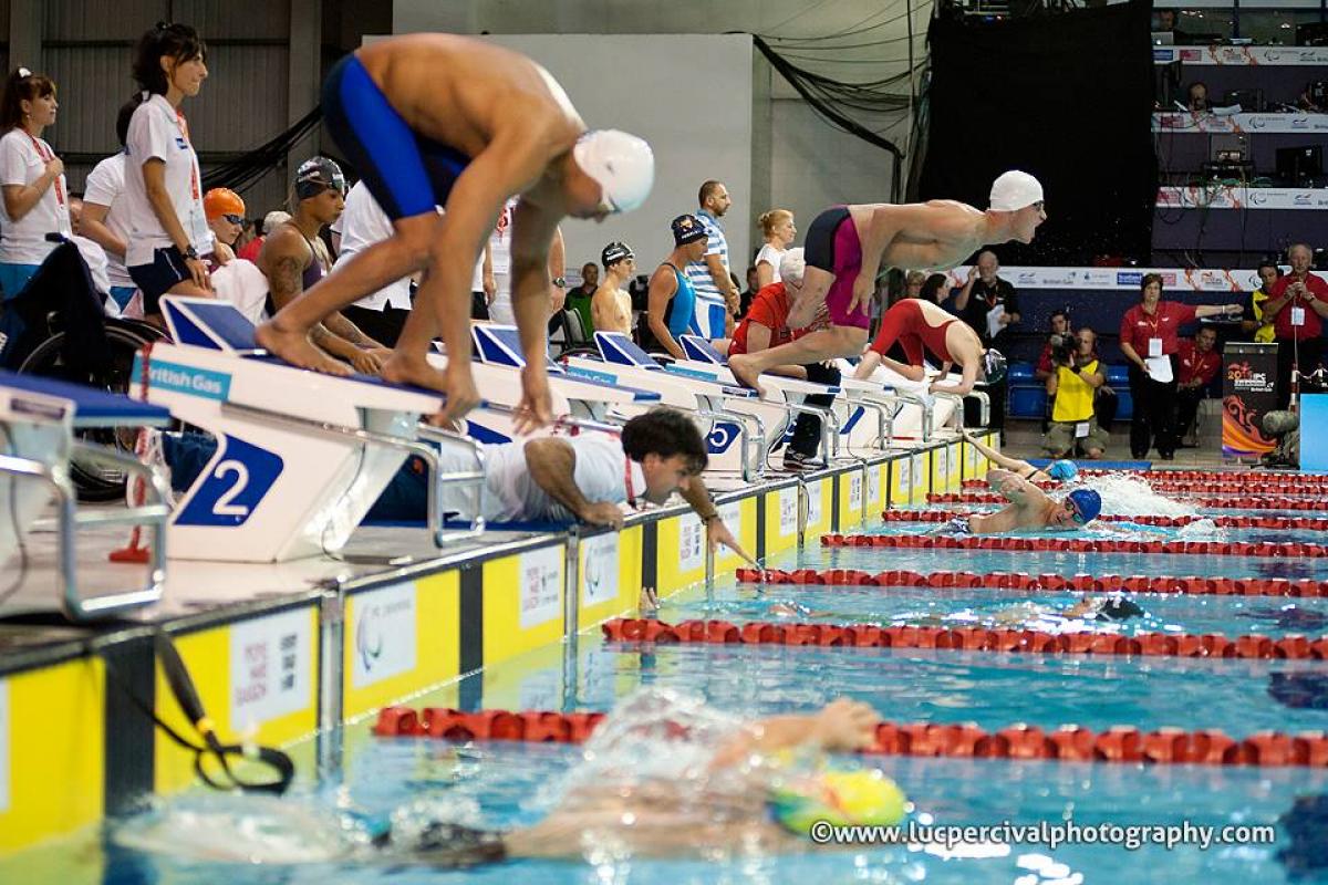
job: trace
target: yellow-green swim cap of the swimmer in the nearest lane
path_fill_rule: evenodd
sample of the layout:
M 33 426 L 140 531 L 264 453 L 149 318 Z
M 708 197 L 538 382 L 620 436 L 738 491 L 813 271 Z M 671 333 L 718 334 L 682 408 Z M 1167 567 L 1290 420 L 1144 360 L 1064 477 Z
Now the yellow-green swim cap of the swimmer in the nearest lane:
M 830 770 L 772 791 L 774 819 L 806 836 L 811 824 L 892 827 L 904 819 L 908 799 L 879 768 Z

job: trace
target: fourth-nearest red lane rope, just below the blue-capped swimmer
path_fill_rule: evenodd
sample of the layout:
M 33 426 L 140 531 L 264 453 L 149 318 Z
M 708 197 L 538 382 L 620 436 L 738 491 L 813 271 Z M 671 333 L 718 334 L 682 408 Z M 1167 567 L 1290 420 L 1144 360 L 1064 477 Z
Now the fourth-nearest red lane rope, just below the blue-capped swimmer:
M 822 535 L 822 547 L 891 547 L 947 551 L 1054 551 L 1061 553 L 1166 553 L 1198 556 L 1328 556 L 1328 544 L 1308 541 L 1118 541 L 1088 537 L 1001 537 L 977 535 Z

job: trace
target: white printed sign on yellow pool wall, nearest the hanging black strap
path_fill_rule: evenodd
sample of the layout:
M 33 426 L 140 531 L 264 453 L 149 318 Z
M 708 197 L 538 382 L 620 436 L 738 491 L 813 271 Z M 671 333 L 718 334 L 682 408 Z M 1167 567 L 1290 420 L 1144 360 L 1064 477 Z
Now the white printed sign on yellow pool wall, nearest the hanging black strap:
M 313 620 L 308 609 L 231 628 L 231 727 L 243 734 L 307 710 L 313 674 Z

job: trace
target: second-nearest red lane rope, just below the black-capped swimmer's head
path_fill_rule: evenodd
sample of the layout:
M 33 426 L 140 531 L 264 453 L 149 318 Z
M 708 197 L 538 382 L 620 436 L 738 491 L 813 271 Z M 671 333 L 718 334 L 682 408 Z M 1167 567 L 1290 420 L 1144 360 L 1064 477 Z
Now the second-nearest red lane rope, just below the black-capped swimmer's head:
M 614 618 L 602 625 L 610 642 L 710 645 L 815 645 L 853 649 L 934 649 L 995 654 L 1105 654 L 1150 658 L 1328 659 L 1328 636 L 1227 637 L 1216 633 L 1045 633 L 985 628 L 870 626 L 837 624 L 732 624 Z

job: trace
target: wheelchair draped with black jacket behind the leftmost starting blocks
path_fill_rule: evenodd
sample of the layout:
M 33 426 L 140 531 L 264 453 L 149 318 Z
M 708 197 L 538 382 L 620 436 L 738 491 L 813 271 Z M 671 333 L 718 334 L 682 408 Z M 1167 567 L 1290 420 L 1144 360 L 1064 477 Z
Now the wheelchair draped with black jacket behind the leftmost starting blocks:
M 70 241 L 46 256 L 28 285 L 5 303 L 5 314 L 12 341 L 0 350 L 4 368 L 110 393 L 127 393 L 134 356 L 166 338 L 147 322 L 106 316 L 88 265 Z M 133 427 L 86 429 L 77 435 L 133 456 L 138 433 Z M 69 472 L 80 500 L 124 500 L 122 471 L 74 459 Z

